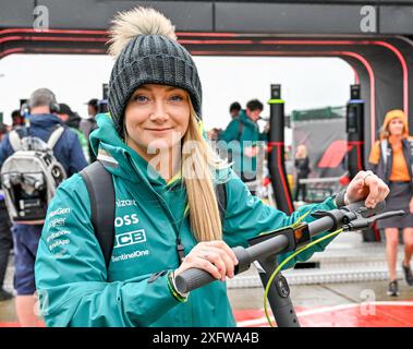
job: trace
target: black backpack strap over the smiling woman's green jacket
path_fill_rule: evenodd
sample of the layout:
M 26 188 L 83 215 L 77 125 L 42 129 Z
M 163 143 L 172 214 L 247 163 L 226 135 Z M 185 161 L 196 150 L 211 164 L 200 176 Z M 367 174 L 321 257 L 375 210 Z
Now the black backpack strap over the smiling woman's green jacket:
M 114 244 L 114 188 L 112 176 L 100 161 L 84 168 L 83 177 L 90 198 L 92 225 L 109 267 Z

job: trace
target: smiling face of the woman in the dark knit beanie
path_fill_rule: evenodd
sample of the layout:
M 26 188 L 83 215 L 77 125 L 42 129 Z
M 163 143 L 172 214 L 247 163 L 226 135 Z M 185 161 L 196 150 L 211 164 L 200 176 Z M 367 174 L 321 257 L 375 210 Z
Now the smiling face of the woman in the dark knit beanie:
M 191 107 L 186 91 L 145 84 L 130 98 L 125 109 L 126 144 L 145 159 L 154 151 L 172 149 L 185 135 Z

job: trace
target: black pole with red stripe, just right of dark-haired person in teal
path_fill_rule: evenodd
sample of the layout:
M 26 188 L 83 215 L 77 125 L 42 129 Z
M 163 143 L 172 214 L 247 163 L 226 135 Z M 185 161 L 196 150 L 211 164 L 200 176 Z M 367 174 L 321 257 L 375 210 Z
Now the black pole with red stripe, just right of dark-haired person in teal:
M 284 101 L 281 99 L 281 86 L 271 85 L 269 133 L 268 133 L 268 171 L 277 208 L 292 214 L 294 206 L 287 179 L 284 165 Z

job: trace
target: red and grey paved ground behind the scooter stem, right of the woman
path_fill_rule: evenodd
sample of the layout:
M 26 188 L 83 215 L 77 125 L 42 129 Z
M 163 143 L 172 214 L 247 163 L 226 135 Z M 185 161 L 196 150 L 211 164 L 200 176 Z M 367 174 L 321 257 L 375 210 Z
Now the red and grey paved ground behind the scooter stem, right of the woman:
M 387 281 L 367 281 L 293 285 L 291 300 L 303 327 L 413 327 L 413 287 L 399 281 L 399 297 L 386 294 Z M 263 288 L 228 293 L 239 326 L 268 326 Z

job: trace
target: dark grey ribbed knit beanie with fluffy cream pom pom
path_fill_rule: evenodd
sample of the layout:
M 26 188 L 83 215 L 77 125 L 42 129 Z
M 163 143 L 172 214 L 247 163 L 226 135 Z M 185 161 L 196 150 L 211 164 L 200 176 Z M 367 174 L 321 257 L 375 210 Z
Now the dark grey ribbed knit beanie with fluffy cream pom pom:
M 117 59 L 109 81 L 108 108 L 121 136 L 126 104 L 143 84 L 187 91 L 202 118 L 202 86 L 196 65 L 177 41 L 173 25 L 161 13 L 147 8 L 120 13 L 111 28 L 109 52 Z

